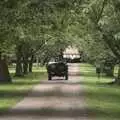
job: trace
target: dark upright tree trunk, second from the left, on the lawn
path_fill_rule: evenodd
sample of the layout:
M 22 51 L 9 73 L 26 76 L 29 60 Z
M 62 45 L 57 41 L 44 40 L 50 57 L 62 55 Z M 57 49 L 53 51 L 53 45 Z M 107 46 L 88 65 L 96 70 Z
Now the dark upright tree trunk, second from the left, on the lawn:
M 17 57 L 17 60 L 16 60 L 15 76 L 21 77 L 21 76 L 23 76 L 21 46 L 17 47 L 16 57 Z

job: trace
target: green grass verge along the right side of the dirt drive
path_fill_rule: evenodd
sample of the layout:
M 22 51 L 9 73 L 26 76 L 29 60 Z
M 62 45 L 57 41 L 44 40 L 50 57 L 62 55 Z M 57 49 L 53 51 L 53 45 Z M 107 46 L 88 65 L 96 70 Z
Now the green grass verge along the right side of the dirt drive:
M 98 79 L 95 68 L 89 64 L 81 64 L 80 70 L 84 76 L 89 114 L 95 120 L 120 120 L 120 86 L 106 84 L 113 78 Z

